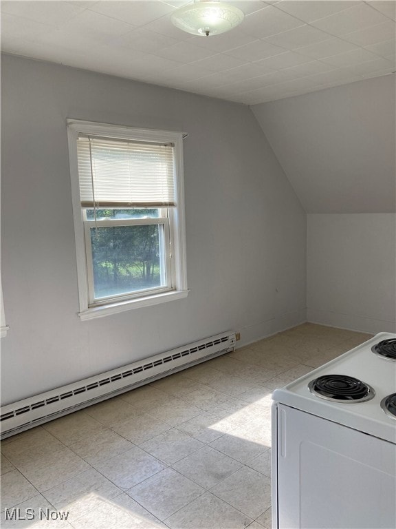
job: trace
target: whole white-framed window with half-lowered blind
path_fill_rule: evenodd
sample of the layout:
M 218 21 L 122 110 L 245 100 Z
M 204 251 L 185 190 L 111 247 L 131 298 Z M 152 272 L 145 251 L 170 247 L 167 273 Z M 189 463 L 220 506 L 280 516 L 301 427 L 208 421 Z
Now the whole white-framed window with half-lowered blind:
M 80 317 L 187 295 L 177 132 L 68 121 Z

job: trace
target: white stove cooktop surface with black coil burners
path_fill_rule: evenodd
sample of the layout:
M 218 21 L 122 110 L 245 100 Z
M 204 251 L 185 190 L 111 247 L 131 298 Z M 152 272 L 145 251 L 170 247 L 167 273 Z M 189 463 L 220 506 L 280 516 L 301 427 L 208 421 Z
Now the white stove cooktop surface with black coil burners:
M 378 345 L 381 343 L 382 346 L 379 348 Z M 351 351 L 347 351 L 291 384 L 287 384 L 284 388 L 276 389 L 272 398 L 276 402 L 396 444 L 395 417 L 384 407 L 383 403 L 387 397 L 396 395 L 396 362 L 386 361 L 389 360 L 387 357 L 378 355 L 377 351 L 374 351 L 374 349 L 385 351 L 391 349 L 392 351 L 395 346 L 395 334 L 379 333 Z M 313 391 L 317 380 L 325 381 L 324 395 Z M 348 380 L 349 382 L 346 382 Z M 354 380 L 358 382 L 353 382 Z M 338 386 L 340 390 L 340 386 L 343 385 L 347 393 L 349 391 L 354 393 L 355 390 L 365 393 L 367 390 L 364 390 L 364 386 L 369 388 L 369 391 L 366 397 L 363 393 L 360 395 L 362 399 L 334 399 L 329 398 L 329 393 L 331 394 L 329 385 L 331 391 L 335 386 Z M 387 402 L 395 404 L 395 400 L 388 399 Z

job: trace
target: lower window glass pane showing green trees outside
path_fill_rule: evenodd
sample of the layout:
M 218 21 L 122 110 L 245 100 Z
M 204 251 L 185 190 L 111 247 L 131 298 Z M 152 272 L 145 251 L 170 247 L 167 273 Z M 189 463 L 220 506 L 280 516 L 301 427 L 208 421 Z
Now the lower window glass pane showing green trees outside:
M 92 227 L 95 299 L 166 286 L 162 225 Z

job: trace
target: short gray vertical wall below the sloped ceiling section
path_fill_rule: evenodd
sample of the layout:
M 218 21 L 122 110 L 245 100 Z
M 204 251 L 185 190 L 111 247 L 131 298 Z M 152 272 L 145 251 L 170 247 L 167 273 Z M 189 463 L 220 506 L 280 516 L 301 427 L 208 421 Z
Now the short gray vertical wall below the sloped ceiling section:
M 396 332 L 396 215 L 308 215 L 308 320 Z

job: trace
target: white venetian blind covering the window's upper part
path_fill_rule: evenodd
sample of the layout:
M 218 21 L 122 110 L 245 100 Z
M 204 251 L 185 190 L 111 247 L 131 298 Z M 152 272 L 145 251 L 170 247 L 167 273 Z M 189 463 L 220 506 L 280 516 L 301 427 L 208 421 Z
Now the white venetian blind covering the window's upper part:
M 83 207 L 175 205 L 173 144 L 80 134 L 77 140 Z

